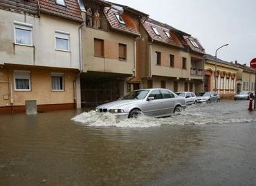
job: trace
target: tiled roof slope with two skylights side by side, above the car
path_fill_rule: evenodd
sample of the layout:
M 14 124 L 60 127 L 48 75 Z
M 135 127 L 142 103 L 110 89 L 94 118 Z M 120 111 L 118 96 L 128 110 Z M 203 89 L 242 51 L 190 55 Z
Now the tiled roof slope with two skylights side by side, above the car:
M 149 19 L 144 21 L 141 21 L 141 23 L 143 24 L 145 30 L 147 31 L 147 33 L 149 34 L 149 36 L 155 40 L 155 41 L 161 41 L 163 43 L 167 43 L 170 45 L 176 45 L 178 47 L 183 48 L 183 45 L 181 44 L 181 42 L 179 41 L 179 39 L 176 37 L 176 35 L 170 30 L 170 25 L 166 25 L 163 24 L 161 25 L 160 22 L 158 21 L 154 21 L 153 19 Z M 154 32 L 154 30 L 152 29 L 152 27 L 156 28 L 156 30 L 158 31 L 158 34 L 156 34 Z M 174 29 L 174 28 L 172 28 Z M 165 32 L 168 32 L 170 34 L 170 37 L 172 37 L 172 39 L 169 39 L 167 37 L 167 34 L 165 34 Z

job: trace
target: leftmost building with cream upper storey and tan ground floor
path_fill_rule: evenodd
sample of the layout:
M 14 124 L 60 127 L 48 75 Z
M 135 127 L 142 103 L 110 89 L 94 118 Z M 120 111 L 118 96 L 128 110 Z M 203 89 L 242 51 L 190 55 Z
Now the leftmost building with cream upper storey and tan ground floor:
M 0 113 L 80 107 L 77 1 L 2 1 L 0 17 Z

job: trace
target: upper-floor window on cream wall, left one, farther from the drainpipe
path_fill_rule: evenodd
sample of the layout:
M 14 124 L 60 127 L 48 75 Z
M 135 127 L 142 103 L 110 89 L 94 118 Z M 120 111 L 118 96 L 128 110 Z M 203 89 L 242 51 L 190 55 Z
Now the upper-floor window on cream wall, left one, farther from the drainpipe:
M 15 44 L 33 45 L 32 28 L 33 25 L 14 21 L 15 24 Z

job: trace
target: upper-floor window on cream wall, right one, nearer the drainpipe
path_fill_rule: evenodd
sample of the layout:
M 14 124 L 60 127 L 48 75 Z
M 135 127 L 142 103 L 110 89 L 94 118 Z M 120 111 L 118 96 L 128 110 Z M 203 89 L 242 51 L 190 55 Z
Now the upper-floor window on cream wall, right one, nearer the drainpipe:
M 69 51 L 69 32 L 55 30 L 56 50 Z

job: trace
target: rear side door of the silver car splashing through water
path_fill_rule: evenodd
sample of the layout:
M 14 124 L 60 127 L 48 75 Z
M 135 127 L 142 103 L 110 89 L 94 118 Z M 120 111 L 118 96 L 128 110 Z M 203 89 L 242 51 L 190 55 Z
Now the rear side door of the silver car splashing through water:
M 172 94 L 172 92 L 168 90 L 160 90 L 163 99 L 162 99 L 162 106 L 164 109 L 163 114 L 165 116 L 169 116 L 174 111 L 174 105 L 175 105 L 175 96 Z

